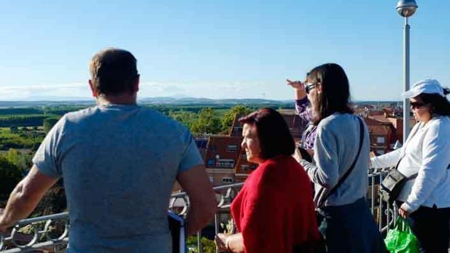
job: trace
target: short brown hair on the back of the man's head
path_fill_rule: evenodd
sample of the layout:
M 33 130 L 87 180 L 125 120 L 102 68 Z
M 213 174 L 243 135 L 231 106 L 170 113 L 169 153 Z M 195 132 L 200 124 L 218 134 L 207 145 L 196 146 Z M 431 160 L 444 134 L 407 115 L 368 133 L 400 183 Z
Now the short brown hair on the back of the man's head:
M 133 93 L 139 76 L 136 58 L 123 49 L 109 48 L 98 52 L 89 62 L 93 88 L 98 94 Z

